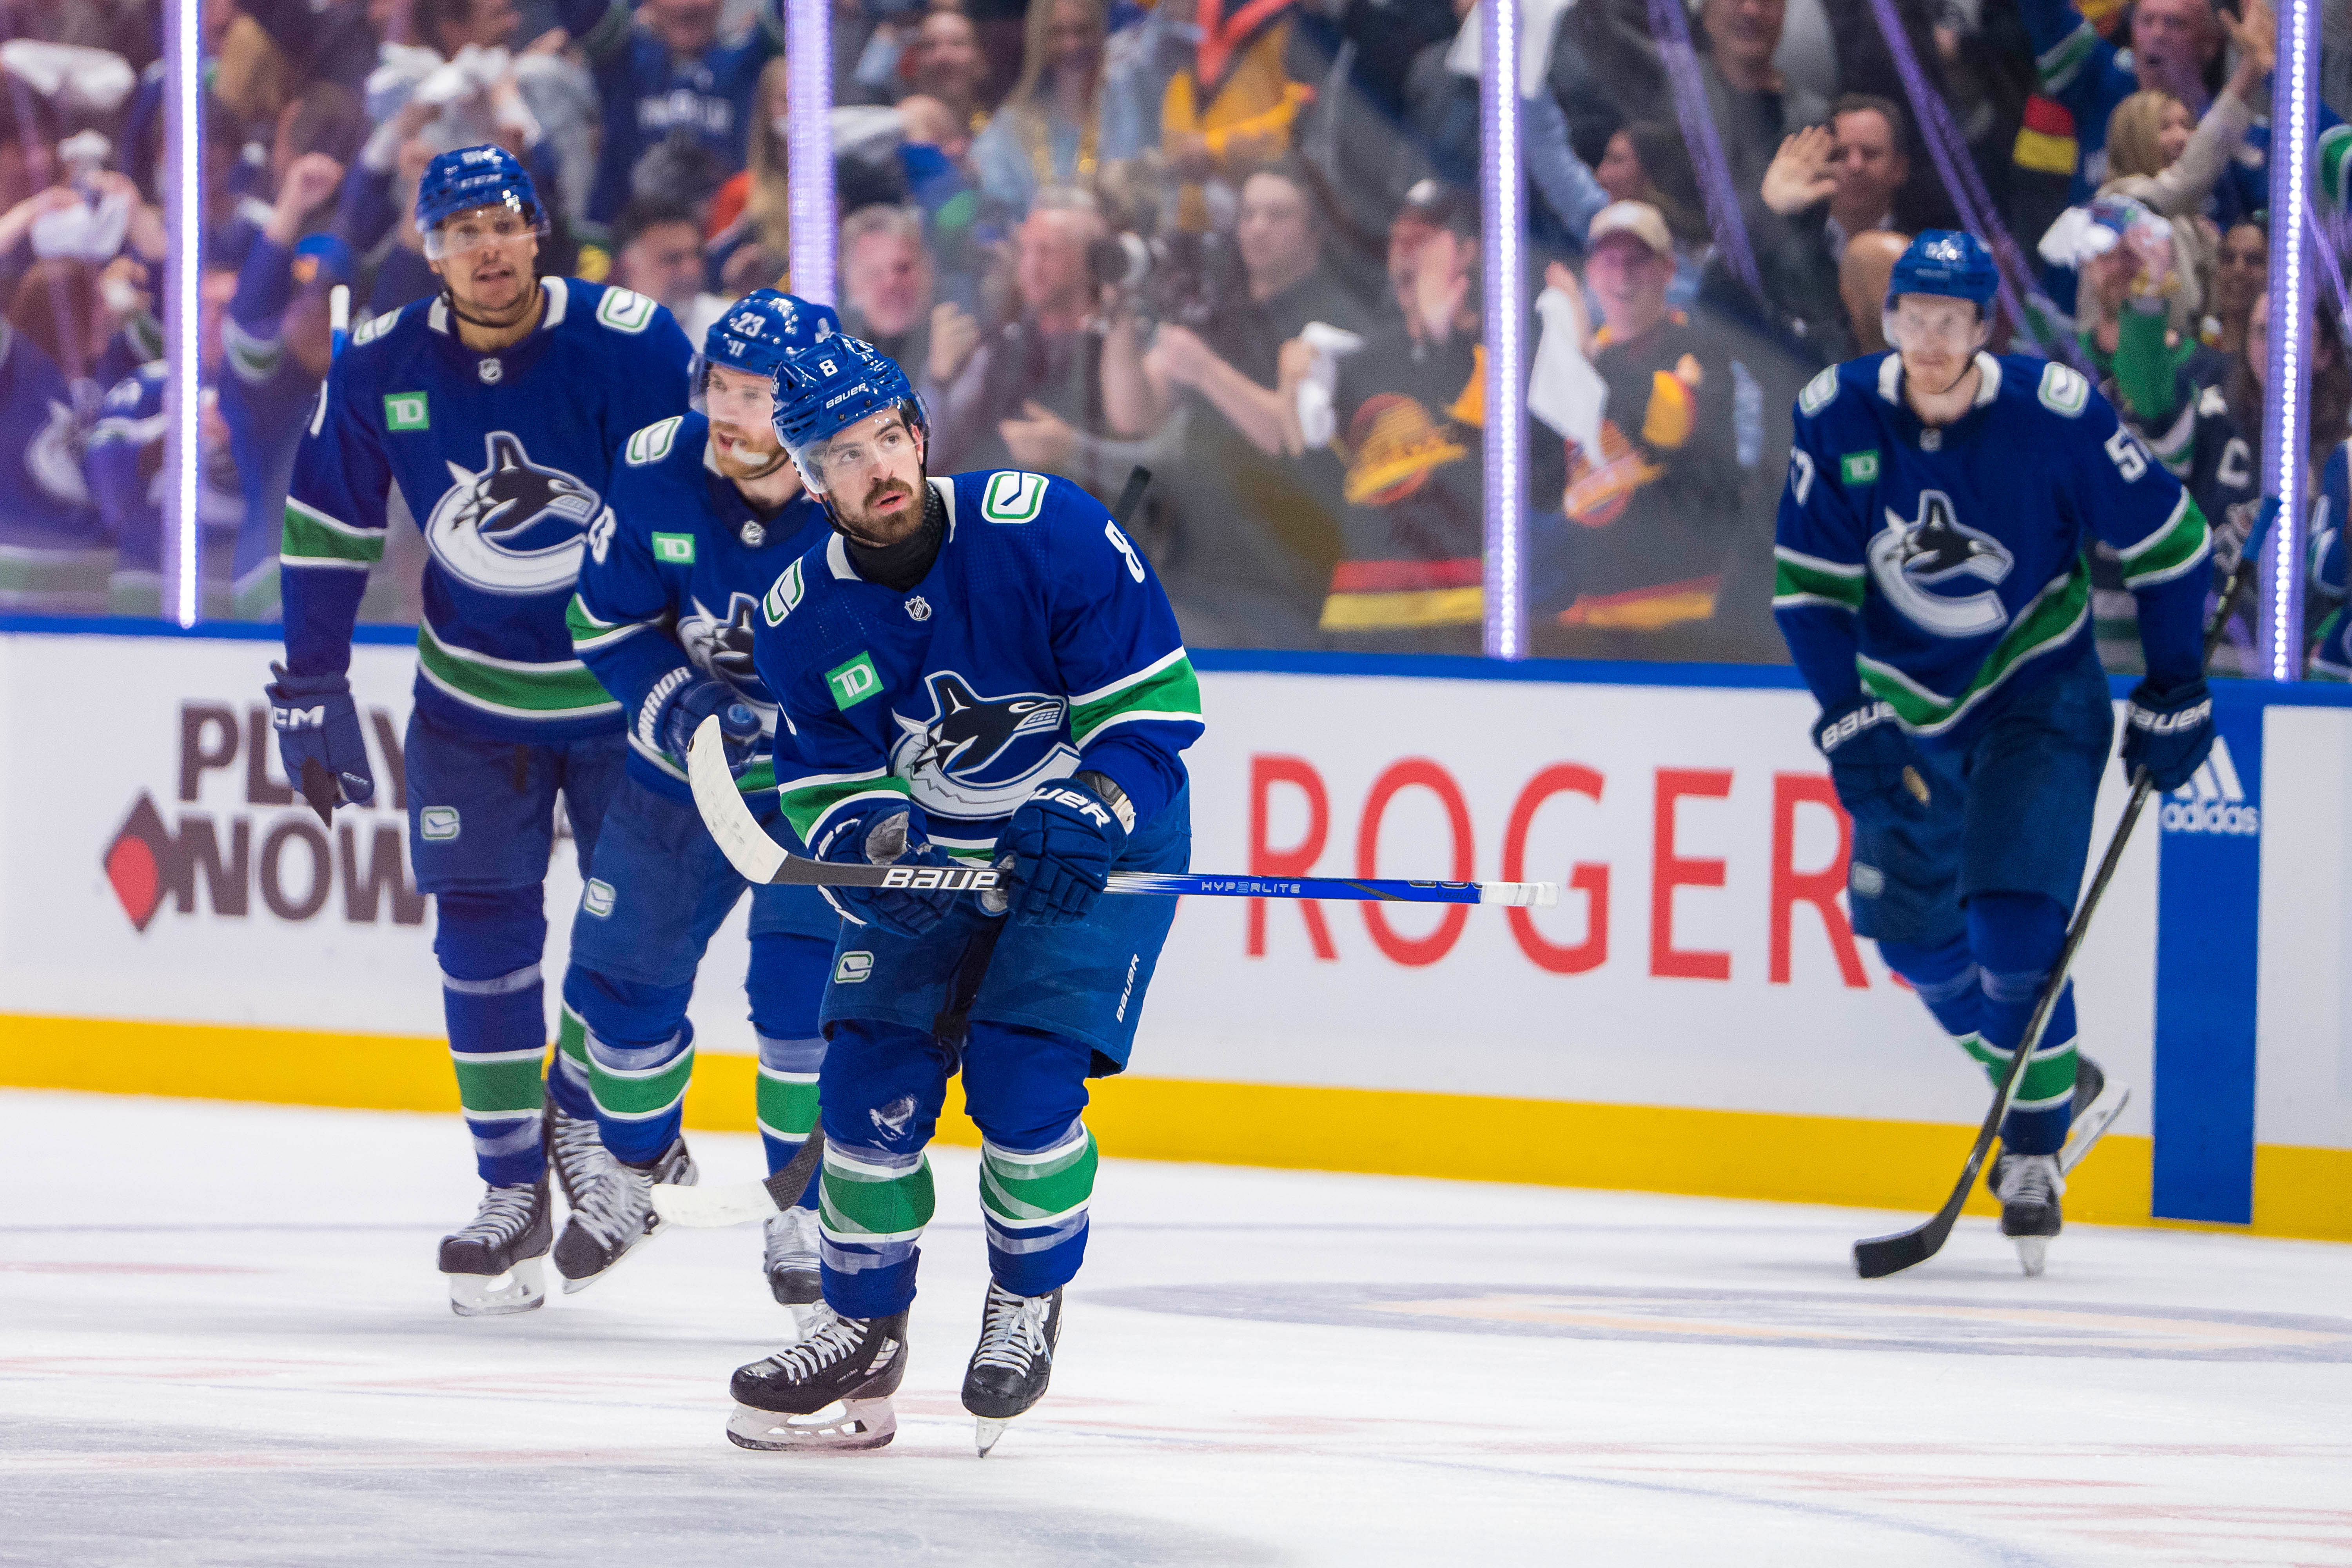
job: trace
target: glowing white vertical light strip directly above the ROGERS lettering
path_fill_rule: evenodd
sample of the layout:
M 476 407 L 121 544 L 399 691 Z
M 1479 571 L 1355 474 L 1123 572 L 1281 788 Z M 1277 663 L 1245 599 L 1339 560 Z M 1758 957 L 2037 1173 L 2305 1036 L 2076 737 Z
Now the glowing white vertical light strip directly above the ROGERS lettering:
M 1519 165 L 1519 0 L 1484 0 L 1479 47 L 1479 266 L 1486 336 L 1486 656 L 1526 658 L 1526 374 L 1519 329 L 1526 277 L 1526 176 Z

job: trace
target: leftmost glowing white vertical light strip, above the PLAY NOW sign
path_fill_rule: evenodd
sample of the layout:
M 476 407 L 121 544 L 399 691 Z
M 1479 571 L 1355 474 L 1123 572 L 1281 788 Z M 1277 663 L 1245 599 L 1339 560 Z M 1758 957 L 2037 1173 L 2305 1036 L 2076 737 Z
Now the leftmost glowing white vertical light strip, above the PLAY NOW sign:
M 198 110 L 202 87 L 202 28 L 195 7 L 165 5 L 165 221 L 172 233 L 172 292 L 162 301 L 165 343 L 172 362 L 165 383 L 165 463 L 172 473 L 172 505 L 165 508 L 165 557 L 172 559 L 165 614 L 181 625 L 195 625 L 202 592 L 205 536 L 198 515 L 198 409 L 202 407 L 202 367 L 198 355 L 198 287 L 205 266 L 205 118 Z M 174 548 L 176 545 L 176 548 Z

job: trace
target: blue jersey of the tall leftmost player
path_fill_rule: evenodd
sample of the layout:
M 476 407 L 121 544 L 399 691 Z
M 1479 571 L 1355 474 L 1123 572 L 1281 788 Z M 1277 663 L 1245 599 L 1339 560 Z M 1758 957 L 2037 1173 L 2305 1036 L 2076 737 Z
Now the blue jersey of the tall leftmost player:
M 343 670 L 386 494 L 423 529 L 416 705 L 463 733 L 564 741 L 621 726 L 564 607 L 621 444 L 687 397 L 684 334 L 642 294 L 546 277 L 546 315 L 480 355 L 449 301 L 381 315 L 334 362 L 287 494 L 287 665 Z

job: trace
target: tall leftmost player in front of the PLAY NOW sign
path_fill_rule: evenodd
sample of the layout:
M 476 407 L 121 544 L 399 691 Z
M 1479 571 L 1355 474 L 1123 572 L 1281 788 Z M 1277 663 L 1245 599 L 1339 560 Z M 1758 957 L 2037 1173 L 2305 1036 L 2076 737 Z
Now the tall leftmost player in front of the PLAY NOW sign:
M 564 604 L 614 454 L 677 411 L 691 350 L 642 294 L 536 275 L 546 214 L 501 148 L 437 155 L 416 228 L 440 296 L 353 336 L 294 461 L 287 661 L 268 696 L 287 778 L 315 804 L 374 795 L 346 670 L 397 484 L 430 548 L 402 743 L 409 858 L 435 896 L 459 1103 L 489 1185 L 440 1253 L 452 1309 L 473 1316 L 543 1300 L 546 1147 L 574 1206 L 612 1164 L 576 1044 L 541 1084 L 555 797 L 586 877 L 628 750 L 621 705 L 572 651 Z

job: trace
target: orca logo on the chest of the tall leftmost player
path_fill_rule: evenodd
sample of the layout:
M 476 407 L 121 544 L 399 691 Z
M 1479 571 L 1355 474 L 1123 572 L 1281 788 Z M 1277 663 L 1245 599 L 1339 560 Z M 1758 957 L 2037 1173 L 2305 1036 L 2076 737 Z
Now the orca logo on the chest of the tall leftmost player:
M 426 520 L 433 557 L 482 592 L 550 592 L 581 571 L 597 494 L 562 468 L 541 468 L 522 437 L 492 430 L 482 473 L 449 463 L 449 489 Z

